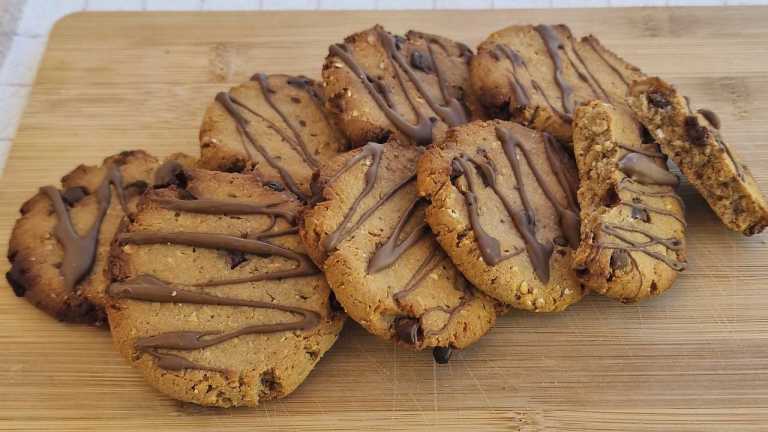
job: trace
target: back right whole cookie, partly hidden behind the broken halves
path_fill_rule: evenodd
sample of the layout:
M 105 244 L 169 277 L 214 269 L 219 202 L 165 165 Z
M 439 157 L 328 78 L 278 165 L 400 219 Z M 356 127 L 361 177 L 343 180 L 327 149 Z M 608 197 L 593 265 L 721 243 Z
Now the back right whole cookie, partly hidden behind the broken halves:
M 594 99 L 624 104 L 644 75 L 592 36 L 577 40 L 565 25 L 515 25 L 492 33 L 470 66 L 486 112 L 571 141 L 573 113 Z

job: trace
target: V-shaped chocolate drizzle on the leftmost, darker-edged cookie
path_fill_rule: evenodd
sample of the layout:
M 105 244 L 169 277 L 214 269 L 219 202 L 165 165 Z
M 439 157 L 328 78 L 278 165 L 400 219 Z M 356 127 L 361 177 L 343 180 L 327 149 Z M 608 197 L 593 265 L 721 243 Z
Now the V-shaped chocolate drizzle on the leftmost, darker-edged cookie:
M 96 260 L 96 247 L 99 241 L 99 231 L 104 217 L 107 215 L 110 203 L 112 201 L 112 188 L 115 186 L 117 198 L 120 200 L 120 206 L 125 214 L 128 214 L 128 208 L 123 192 L 123 179 L 120 171 L 114 166 L 109 165 L 106 168 L 104 178 L 96 189 L 96 199 L 98 201 L 98 212 L 96 218 L 85 235 L 80 235 L 72 225 L 72 218 L 69 210 L 64 204 L 61 192 L 53 186 L 44 186 L 40 192 L 46 194 L 53 204 L 56 212 L 56 226 L 54 235 L 61 243 L 64 249 L 62 259 L 61 273 L 64 277 L 64 286 L 69 290 L 74 290 L 77 285 L 93 268 Z

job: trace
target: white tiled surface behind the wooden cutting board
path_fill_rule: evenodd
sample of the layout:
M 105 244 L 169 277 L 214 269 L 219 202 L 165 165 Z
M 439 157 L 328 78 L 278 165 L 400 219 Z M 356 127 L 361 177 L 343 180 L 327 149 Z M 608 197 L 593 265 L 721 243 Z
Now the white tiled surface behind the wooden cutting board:
M 9 0 L 0 0 L 0 2 Z M 14 0 L 18 9 L 18 1 Z M 623 6 L 768 5 L 768 0 L 26 0 L 21 13 L 3 20 L 12 38 L 0 68 L 0 173 L 24 111 L 37 66 L 53 24 L 80 11 L 140 10 L 315 10 L 315 9 L 489 9 Z M 0 10 L 0 12 L 3 12 Z M 16 18 L 20 16 L 20 18 Z

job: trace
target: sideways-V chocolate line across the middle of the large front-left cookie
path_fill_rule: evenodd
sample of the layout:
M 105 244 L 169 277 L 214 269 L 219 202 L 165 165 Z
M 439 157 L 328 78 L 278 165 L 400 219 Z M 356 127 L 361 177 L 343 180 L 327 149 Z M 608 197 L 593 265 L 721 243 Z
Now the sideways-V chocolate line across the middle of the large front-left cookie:
M 293 269 L 262 273 L 235 279 L 212 280 L 195 284 L 194 286 L 221 286 L 264 280 L 285 279 L 292 277 L 311 276 L 320 271 L 304 254 L 274 245 L 258 239 L 241 238 L 226 234 L 197 233 L 197 232 L 155 232 L 140 231 L 119 234 L 117 240 L 121 244 L 133 243 L 139 245 L 171 243 L 207 249 L 225 249 L 256 255 L 272 255 L 287 258 L 298 263 Z

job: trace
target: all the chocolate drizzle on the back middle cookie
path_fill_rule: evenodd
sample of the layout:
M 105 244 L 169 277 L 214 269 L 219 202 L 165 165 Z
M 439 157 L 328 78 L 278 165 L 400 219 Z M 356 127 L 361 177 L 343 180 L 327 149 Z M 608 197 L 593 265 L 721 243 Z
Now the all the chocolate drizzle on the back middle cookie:
M 417 145 L 427 145 L 432 142 L 433 122 L 414 102 L 413 97 L 408 92 L 403 74 L 405 74 L 408 80 L 413 84 L 420 97 L 427 103 L 427 105 L 429 105 L 432 111 L 448 126 L 456 126 L 468 121 L 466 109 L 458 99 L 451 96 L 445 79 L 445 74 L 441 70 L 434 55 L 434 50 L 432 48 L 433 44 L 440 46 L 446 54 L 449 54 L 448 47 L 446 47 L 442 41 L 431 35 L 412 32 L 414 36 L 423 38 L 427 43 L 428 58 L 424 57 L 421 62 L 423 64 L 429 64 L 431 66 L 430 69 L 434 69 L 442 96 L 442 102 L 439 102 L 432 96 L 432 93 L 426 88 L 425 83 L 414 72 L 409 61 L 400 53 L 397 40 L 380 27 L 376 27 L 374 31 L 387 53 L 387 60 L 394 71 L 395 78 L 405 95 L 408 104 L 416 115 L 416 124 L 409 123 L 403 115 L 395 109 L 395 104 L 390 96 L 390 90 L 386 88 L 384 82 L 374 79 L 363 70 L 362 66 L 355 60 L 350 52 L 351 50 L 348 45 L 331 45 L 329 47 L 329 54 L 338 57 L 344 64 L 346 64 L 352 73 L 354 73 L 360 80 L 366 90 L 368 90 L 368 93 L 379 106 L 379 109 L 381 109 L 387 119 L 392 122 L 400 132 L 413 140 Z M 426 54 L 421 55 L 426 56 Z M 462 55 L 464 55 L 464 51 L 462 51 Z M 426 70 L 424 70 L 424 72 L 429 73 Z

